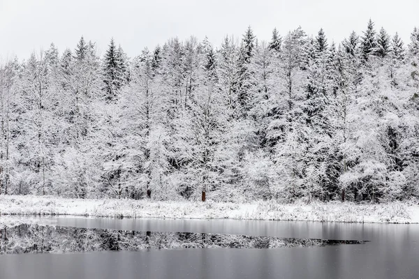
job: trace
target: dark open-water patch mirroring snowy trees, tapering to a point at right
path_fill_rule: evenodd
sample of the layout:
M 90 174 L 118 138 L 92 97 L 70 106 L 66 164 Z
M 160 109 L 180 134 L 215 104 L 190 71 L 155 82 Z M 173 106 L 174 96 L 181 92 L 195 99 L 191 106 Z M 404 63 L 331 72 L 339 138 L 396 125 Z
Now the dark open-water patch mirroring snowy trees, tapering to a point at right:
M 191 232 L 138 232 L 32 224 L 5 226 L 0 229 L 0 254 L 179 248 L 284 248 L 360 243 L 364 241 Z

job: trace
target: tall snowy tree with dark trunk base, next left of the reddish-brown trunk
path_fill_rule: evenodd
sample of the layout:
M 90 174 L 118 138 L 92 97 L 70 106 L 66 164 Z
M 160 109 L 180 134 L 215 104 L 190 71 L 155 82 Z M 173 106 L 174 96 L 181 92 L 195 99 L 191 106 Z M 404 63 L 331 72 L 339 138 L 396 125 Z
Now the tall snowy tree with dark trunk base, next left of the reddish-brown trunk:
M 103 175 L 117 197 L 167 199 L 173 193 L 167 178 L 166 99 L 154 78 L 152 54 L 145 49 L 133 64 L 132 81 L 118 103 L 119 135 L 109 135 L 113 143 Z

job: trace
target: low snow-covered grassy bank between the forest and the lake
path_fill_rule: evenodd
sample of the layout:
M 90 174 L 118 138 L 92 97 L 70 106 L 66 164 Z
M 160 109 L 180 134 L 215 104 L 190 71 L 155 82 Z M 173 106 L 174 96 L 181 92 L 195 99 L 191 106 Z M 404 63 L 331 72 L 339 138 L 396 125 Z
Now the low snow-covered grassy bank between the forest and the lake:
M 250 204 L 156 202 L 133 199 L 64 199 L 39 196 L 0 196 L 1 215 L 73 215 L 112 218 L 231 218 L 249 220 L 304 220 L 352 223 L 419 223 L 419 206 L 394 202 L 355 204 Z

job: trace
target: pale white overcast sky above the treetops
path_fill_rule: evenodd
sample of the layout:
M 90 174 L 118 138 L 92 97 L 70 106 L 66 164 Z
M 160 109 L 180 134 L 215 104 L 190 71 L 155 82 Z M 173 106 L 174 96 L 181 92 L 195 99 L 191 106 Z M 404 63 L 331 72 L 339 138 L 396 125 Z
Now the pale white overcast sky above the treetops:
M 74 49 L 82 35 L 101 54 L 112 36 L 128 56 L 175 36 L 208 36 L 219 46 L 249 25 L 259 40 L 269 40 L 274 27 L 284 35 L 300 25 L 308 34 L 323 27 L 340 42 L 352 30 L 361 34 L 370 17 L 407 44 L 418 11 L 419 0 L 0 0 L 0 57 L 27 58 L 50 43 Z

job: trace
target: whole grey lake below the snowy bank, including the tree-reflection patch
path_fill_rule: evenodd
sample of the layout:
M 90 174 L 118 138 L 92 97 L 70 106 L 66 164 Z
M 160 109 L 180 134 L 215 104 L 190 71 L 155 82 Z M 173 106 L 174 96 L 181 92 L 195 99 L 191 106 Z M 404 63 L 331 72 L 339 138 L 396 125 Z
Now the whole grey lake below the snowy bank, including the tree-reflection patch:
M 419 225 L 69 217 L 16 223 L 1 231 L 0 252 L 9 252 L 0 255 L 1 279 L 419 278 Z M 369 242 L 330 245 L 348 240 Z

